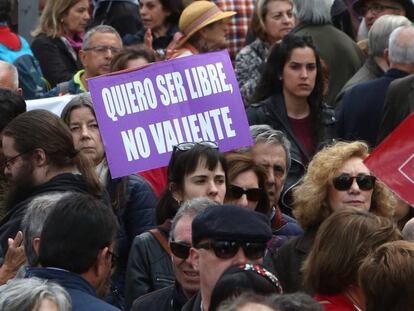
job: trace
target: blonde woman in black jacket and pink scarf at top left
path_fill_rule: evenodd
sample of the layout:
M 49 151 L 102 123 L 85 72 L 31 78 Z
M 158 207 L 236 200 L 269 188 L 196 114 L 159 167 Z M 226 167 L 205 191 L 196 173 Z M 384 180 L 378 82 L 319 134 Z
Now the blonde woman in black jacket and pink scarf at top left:
M 89 21 L 88 0 L 47 1 L 31 45 L 51 87 L 68 81 L 82 68 L 78 57 Z

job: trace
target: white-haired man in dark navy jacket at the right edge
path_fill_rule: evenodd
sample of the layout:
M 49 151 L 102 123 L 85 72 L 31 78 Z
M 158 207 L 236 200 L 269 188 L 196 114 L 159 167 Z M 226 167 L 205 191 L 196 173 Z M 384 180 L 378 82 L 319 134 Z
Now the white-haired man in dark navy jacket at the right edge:
M 338 113 L 338 137 L 376 146 L 384 98 L 390 83 L 414 73 L 414 27 L 395 29 L 389 39 L 390 69 L 379 79 L 354 86 L 344 95 Z

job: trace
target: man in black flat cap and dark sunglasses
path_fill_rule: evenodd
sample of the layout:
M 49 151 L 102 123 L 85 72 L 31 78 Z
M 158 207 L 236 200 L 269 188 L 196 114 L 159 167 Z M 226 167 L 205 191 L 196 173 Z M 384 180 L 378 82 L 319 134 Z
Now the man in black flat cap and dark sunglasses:
M 235 264 L 262 263 L 271 237 L 268 217 L 238 206 L 210 206 L 194 218 L 190 260 L 200 274 L 200 292 L 182 310 L 208 310 L 211 292 L 224 270 Z

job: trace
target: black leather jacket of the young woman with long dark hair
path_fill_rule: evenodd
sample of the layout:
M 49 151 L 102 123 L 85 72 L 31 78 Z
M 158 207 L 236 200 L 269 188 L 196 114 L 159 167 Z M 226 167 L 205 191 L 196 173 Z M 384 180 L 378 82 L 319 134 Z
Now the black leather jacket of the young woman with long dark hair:
M 279 201 L 282 211 L 291 214 L 291 190 L 299 183 L 305 173 L 305 164 L 302 159 L 306 159 L 307 162 L 309 162 L 313 155 L 306 152 L 293 133 L 289 123 L 285 102 L 281 94 L 273 95 L 257 104 L 252 104 L 247 110 L 247 117 L 250 125 L 267 124 L 275 130 L 282 131 L 291 143 L 290 155 L 292 163 Z M 324 106 L 322 111 L 324 135 L 320 141 L 316 142 L 316 146 L 335 136 L 334 125 L 334 110 L 328 106 Z

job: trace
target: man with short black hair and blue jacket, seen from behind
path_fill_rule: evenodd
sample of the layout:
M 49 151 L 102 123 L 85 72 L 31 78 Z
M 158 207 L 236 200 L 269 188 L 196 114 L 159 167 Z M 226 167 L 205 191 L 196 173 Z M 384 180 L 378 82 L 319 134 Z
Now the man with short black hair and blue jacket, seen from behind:
M 109 289 L 116 264 L 117 220 L 109 205 L 87 194 L 58 201 L 40 235 L 38 260 L 26 278 L 51 280 L 69 293 L 73 311 L 117 311 L 98 297 Z

